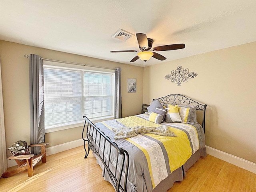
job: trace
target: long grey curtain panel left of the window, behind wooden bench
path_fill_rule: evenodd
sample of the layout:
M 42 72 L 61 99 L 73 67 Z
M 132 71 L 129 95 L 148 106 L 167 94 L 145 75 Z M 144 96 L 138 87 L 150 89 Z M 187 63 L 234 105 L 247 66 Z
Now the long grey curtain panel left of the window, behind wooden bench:
M 44 142 L 44 68 L 40 56 L 30 54 L 30 144 Z M 39 154 L 40 147 L 31 148 L 32 154 Z

